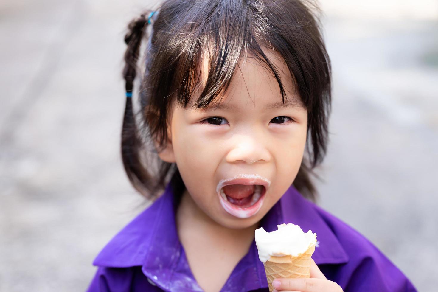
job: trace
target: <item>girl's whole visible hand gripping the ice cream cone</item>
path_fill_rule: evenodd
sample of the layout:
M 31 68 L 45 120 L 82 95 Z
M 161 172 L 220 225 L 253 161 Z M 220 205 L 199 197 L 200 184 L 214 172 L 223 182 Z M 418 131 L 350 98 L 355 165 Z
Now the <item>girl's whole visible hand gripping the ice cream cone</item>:
M 325 278 L 313 259 L 310 260 L 310 278 L 277 278 L 272 281 L 272 286 L 272 292 L 343 292 L 341 286 Z

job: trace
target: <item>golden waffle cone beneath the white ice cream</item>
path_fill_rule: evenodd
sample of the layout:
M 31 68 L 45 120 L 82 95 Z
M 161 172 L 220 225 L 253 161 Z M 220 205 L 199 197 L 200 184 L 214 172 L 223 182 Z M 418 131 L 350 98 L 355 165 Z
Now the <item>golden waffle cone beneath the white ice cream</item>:
M 268 279 L 269 292 L 272 292 L 272 281 L 276 278 L 310 278 L 310 259 L 314 251 L 315 245 L 312 244 L 297 257 L 270 257 L 269 260 L 263 263 L 266 278 Z

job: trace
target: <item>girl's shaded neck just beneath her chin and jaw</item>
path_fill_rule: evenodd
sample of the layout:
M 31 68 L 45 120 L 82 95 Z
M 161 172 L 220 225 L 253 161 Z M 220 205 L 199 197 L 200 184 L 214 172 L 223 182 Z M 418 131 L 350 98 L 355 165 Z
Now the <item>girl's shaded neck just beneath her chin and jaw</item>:
M 254 231 L 259 227 L 259 222 L 244 229 L 230 229 L 220 225 L 198 207 L 187 189 L 182 194 L 176 220 L 180 235 L 184 229 L 190 229 L 191 232 L 202 233 L 212 240 L 238 242 L 247 247 L 251 245 Z

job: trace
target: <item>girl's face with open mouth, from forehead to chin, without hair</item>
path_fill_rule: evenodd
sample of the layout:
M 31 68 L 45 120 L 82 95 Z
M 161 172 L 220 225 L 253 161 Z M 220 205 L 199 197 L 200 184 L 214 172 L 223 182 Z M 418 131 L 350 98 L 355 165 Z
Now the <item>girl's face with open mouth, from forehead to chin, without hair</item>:
M 260 221 L 293 183 L 304 155 L 307 110 L 294 93 L 281 56 L 264 52 L 281 74 L 285 104 L 270 70 L 254 59 L 240 60 L 219 108 L 196 109 L 192 101 L 184 109 L 173 102 L 170 141 L 159 154 L 177 164 L 187 188 L 184 195 L 191 196 L 196 211 L 231 229 Z M 201 68 L 204 83 L 206 66 Z M 227 180 L 236 177 L 243 179 Z M 227 182 L 239 186 L 223 188 L 223 193 L 216 190 Z M 251 186 L 255 184 L 265 186 Z M 248 193 L 253 193 L 249 197 L 253 201 L 241 199 Z

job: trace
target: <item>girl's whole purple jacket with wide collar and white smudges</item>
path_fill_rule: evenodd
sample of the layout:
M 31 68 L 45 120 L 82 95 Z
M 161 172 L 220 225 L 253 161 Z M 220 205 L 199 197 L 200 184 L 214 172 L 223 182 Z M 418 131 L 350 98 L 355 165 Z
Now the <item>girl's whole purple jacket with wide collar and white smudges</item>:
M 173 188 L 122 229 L 95 258 L 98 266 L 88 292 L 202 291 L 187 263 L 175 225 Z M 293 223 L 316 232 L 312 256 L 329 280 L 345 292 L 417 291 L 370 241 L 346 223 L 290 188 L 261 220 L 266 231 Z M 253 240 L 221 292 L 268 291 L 265 269 Z

